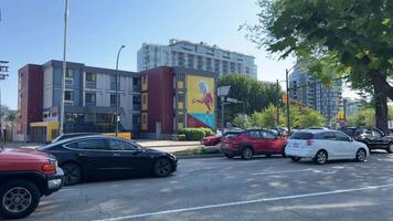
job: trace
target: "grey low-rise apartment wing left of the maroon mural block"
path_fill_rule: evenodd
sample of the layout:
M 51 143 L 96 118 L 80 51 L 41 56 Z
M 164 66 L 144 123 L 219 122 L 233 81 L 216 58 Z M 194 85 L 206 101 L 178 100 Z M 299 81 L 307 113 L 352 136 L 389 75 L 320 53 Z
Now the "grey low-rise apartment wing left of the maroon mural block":
M 60 122 L 62 66 L 62 61 L 51 60 L 43 65 L 35 65 L 38 69 L 35 72 L 35 72 L 20 74 L 21 82 L 32 74 L 40 75 L 41 80 L 36 81 L 42 82 L 34 85 L 36 94 L 31 94 L 30 91 L 25 92 L 25 88 L 21 87 L 19 108 L 21 115 L 25 115 L 24 117 L 29 119 L 31 114 L 25 114 L 25 108 L 31 105 L 41 105 L 39 114 L 34 113 L 34 120 L 42 122 L 39 125 Z M 22 69 L 20 72 L 24 73 L 25 71 Z M 118 71 L 118 74 L 120 129 L 137 134 L 140 129 L 140 74 L 126 71 Z M 28 93 L 29 98 L 22 99 L 22 93 Z M 114 131 L 116 98 L 116 70 L 67 62 L 64 130 L 66 133 Z M 38 117 L 38 115 L 40 116 Z M 23 127 L 29 128 L 31 122 L 23 124 Z M 28 129 L 20 131 L 28 131 Z M 29 133 L 26 136 L 29 137 Z

